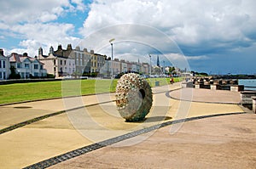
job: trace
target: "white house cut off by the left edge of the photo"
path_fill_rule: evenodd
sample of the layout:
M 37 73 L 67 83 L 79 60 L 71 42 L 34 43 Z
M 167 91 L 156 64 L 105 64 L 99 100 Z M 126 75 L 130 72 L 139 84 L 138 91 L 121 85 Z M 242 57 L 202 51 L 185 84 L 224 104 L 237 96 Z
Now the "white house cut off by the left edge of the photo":
M 3 55 L 3 49 L 0 48 L 0 80 L 9 78 L 9 58 Z

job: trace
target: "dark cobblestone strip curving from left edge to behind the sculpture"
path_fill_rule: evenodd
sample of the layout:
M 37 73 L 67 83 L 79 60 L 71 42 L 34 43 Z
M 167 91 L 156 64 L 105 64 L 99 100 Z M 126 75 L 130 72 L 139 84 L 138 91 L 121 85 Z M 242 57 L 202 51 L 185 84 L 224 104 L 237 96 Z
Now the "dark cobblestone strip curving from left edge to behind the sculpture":
M 111 101 L 106 101 L 106 102 L 102 102 L 102 103 L 99 103 L 99 104 L 107 104 L 107 103 L 110 103 L 110 102 L 113 102 L 113 101 L 112 100 Z M 13 126 L 5 127 L 5 128 L 0 130 L 0 135 L 3 134 L 4 132 L 10 132 L 12 130 L 15 130 L 16 128 L 20 128 L 20 127 L 24 127 L 26 125 L 32 124 L 33 122 L 42 121 L 42 120 L 44 120 L 46 118 L 49 118 L 51 116 L 61 115 L 65 112 L 67 112 L 67 111 L 79 110 L 79 109 L 82 109 L 84 107 L 90 107 L 90 106 L 94 106 L 94 105 L 97 105 L 97 104 L 89 104 L 89 105 L 79 106 L 79 107 L 69 109 L 69 110 L 61 110 L 61 111 L 57 111 L 55 113 L 51 113 L 51 114 L 48 114 L 48 115 L 38 116 L 38 117 L 30 119 L 28 121 L 23 121 L 23 122 L 20 122 L 18 124 L 15 124 Z

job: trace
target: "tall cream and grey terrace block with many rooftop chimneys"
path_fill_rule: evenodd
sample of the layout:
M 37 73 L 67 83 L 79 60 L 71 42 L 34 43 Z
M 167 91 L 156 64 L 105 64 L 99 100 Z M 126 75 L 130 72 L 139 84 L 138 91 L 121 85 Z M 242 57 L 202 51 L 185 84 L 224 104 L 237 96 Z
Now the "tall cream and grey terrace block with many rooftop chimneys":
M 82 76 L 84 73 L 99 72 L 105 63 L 103 55 L 94 54 L 93 50 L 89 53 L 87 48 L 73 49 L 71 44 L 67 45 L 67 49 L 59 45 L 56 51 L 51 47 L 48 56 L 42 52 L 38 53 L 38 58 L 44 62 L 48 73 L 55 77 Z

